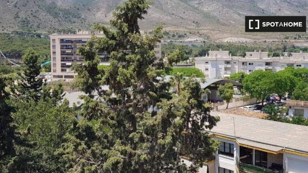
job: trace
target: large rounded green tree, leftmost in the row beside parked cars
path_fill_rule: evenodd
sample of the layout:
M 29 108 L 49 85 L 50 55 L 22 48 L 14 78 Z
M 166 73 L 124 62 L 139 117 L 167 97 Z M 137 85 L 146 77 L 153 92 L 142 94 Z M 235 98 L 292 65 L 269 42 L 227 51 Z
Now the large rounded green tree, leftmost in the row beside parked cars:
M 268 95 L 274 93 L 273 75 L 269 70 L 256 70 L 243 80 L 243 90 L 252 97 L 263 102 Z

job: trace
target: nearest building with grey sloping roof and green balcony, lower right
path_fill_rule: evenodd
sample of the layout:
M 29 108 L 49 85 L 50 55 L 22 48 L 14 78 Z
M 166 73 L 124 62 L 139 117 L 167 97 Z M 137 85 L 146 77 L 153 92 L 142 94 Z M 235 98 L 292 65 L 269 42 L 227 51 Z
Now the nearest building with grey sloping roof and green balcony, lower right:
M 220 121 L 207 132 L 221 145 L 199 173 L 308 172 L 308 127 L 221 112 L 211 115 Z

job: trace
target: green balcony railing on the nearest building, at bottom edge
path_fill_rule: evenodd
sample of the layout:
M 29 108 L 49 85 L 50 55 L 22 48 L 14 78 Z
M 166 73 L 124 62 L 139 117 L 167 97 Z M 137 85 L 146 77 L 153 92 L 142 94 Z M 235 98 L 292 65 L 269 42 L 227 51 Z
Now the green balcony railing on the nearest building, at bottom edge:
M 245 163 L 238 163 L 238 168 L 241 173 L 283 173 L 283 170 L 271 170 Z

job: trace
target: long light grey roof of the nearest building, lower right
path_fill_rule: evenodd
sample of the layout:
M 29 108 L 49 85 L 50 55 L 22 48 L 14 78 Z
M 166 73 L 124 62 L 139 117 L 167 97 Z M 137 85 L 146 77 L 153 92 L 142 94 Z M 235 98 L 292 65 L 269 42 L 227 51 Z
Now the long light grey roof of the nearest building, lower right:
M 236 139 L 239 144 L 274 152 L 282 149 L 308 154 L 308 126 L 212 111 L 220 121 L 209 133 Z

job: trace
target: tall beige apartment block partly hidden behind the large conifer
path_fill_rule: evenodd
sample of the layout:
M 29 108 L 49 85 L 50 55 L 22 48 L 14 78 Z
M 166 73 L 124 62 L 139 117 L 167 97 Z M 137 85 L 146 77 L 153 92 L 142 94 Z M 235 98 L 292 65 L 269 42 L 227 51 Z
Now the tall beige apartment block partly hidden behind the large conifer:
M 96 35 L 101 37 L 103 35 Z M 52 34 L 50 35 L 51 51 L 51 79 L 52 80 L 72 80 L 77 75 L 72 69 L 72 63 L 82 63 L 83 57 L 77 54 L 79 46 L 85 45 L 91 38 L 91 34 L 86 31 L 77 34 Z M 161 59 L 161 43 L 157 43 L 154 48 L 156 57 Z M 101 63 L 106 64 L 105 56 L 100 53 Z M 107 63 L 108 64 L 108 63 Z

